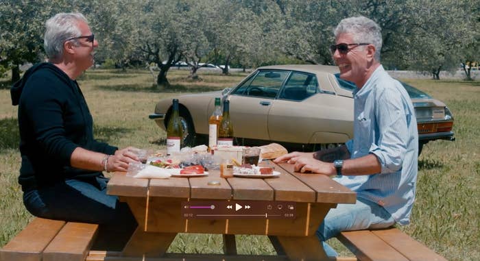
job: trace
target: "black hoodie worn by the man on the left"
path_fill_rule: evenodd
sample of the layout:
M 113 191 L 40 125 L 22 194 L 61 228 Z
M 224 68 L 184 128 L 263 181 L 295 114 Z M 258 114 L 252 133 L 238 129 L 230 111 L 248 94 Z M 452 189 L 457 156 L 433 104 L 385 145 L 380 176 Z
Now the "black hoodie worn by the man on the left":
M 102 175 L 70 164 L 77 147 L 106 154 L 117 150 L 93 138 L 93 119 L 76 81 L 45 62 L 26 71 L 10 95 L 12 104 L 19 105 L 23 191 Z

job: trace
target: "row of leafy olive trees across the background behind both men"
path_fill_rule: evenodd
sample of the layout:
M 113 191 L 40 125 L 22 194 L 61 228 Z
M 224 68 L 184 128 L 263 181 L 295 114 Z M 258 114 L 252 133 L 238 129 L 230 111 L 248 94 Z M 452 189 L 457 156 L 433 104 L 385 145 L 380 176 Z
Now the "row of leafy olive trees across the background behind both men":
M 387 69 L 429 71 L 480 60 L 480 0 L 0 0 L 0 73 L 45 60 L 43 31 L 58 12 L 82 12 L 99 40 L 97 62 L 156 64 L 156 83 L 187 62 L 254 67 L 333 64 L 335 25 L 372 18 L 383 29 Z M 466 77 L 470 67 L 464 66 Z

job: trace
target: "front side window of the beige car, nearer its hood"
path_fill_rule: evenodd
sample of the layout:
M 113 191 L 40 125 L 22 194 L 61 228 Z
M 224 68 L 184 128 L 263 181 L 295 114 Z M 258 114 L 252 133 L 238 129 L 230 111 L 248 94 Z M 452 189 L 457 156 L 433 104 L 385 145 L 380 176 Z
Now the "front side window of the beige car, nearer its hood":
M 252 97 L 275 98 L 289 75 L 288 71 L 259 71 L 232 94 Z

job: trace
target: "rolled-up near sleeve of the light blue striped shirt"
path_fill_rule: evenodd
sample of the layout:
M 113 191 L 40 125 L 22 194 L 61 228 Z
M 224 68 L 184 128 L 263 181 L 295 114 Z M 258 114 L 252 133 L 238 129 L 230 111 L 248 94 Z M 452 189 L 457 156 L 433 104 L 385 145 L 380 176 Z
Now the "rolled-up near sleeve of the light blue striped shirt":
M 382 173 L 393 173 L 402 168 L 407 150 L 407 117 L 402 98 L 394 88 L 385 88 L 378 95 L 375 110 L 379 139 L 369 152 L 379 159 Z

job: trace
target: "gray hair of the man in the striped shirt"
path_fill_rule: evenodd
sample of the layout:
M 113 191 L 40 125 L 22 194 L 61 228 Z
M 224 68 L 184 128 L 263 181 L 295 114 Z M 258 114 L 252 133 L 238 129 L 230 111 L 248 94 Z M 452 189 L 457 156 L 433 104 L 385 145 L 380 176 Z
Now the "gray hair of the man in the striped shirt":
M 380 50 L 382 49 L 382 32 L 379 25 L 365 16 L 349 17 L 340 21 L 333 34 L 335 38 L 339 34 L 352 34 L 355 42 L 367 42 L 375 47 L 374 58 L 380 62 Z

